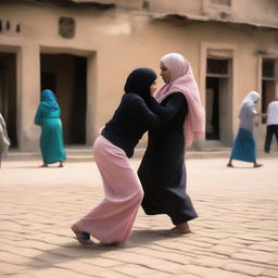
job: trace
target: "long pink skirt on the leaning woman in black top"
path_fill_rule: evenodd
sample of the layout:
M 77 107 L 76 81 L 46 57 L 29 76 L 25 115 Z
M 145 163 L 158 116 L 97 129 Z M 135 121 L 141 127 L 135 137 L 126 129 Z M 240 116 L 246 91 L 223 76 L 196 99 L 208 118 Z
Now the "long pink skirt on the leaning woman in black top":
M 103 136 L 97 138 L 92 154 L 105 198 L 75 225 L 102 243 L 124 243 L 142 201 L 141 184 L 125 152 Z

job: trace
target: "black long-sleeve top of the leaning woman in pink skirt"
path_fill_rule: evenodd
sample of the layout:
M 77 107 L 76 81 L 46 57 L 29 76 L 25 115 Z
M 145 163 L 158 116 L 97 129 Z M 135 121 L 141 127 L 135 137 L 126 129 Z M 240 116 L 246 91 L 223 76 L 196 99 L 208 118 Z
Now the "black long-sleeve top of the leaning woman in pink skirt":
M 163 125 L 178 111 L 182 94 L 172 98 L 167 108 L 151 98 L 147 103 L 136 93 L 125 93 L 112 119 L 106 123 L 101 135 L 123 149 L 128 157 L 134 155 L 134 149 L 143 134 Z

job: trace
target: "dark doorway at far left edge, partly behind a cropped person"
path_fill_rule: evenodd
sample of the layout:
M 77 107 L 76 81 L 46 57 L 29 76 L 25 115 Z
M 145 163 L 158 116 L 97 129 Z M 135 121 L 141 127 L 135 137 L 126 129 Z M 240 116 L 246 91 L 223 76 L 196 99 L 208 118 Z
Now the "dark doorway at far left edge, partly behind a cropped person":
M 17 147 L 15 53 L 0 52 L 0 113 L 7 123 L 11 147 Z

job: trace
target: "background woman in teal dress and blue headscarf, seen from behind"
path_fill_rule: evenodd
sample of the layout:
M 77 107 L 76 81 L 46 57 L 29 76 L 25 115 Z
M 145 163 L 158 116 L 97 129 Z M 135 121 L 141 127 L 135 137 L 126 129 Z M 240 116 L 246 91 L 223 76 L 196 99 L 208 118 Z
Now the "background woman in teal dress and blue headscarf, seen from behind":
M 35 124 L 41 127 L 40 151 L 43 160 L 42 167 L 55 162 L 60 162 L 59 166 L 63 167 L 66 154 L 60 115 L 61 110 L 54 93 L 51 90 L 43 90 L 35 117 Z

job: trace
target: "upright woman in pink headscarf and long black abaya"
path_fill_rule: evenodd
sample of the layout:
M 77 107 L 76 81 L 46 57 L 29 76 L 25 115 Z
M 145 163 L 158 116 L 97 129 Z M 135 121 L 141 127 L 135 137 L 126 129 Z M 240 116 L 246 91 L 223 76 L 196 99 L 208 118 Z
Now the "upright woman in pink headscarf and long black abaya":
M 138 175 L 143 187 L 142 207 L 148 215 L 167 214 L 168 233 L 190 232 L 188 222 L 198 217 L 186 193 L 185 149 L 204 134 L 204 110 L 187 59 L 168 53 L 161 59 L 163 87 L 155 98 L 169 118 L 149 130 L 149 141 Z

